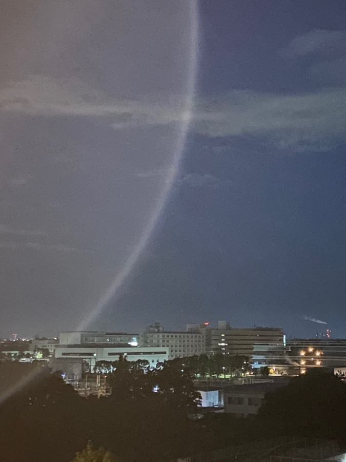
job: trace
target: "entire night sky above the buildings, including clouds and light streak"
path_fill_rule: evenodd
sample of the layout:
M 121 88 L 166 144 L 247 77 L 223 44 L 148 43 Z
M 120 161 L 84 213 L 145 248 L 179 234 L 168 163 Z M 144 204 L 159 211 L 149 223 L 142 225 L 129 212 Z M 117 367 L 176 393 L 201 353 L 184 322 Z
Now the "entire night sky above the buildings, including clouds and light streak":
M 346 337 L 343 0 L 5 0 L 0 336 Z

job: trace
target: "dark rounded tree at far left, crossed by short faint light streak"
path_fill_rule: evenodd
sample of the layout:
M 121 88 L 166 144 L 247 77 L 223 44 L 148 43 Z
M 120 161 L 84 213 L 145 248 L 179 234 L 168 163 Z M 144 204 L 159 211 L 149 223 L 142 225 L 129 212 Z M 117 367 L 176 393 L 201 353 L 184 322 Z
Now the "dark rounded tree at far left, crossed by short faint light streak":
M 70 460 L 82 446 L 85 400 L 45 361 L 1 363 L 0 381 L 0 459 Z

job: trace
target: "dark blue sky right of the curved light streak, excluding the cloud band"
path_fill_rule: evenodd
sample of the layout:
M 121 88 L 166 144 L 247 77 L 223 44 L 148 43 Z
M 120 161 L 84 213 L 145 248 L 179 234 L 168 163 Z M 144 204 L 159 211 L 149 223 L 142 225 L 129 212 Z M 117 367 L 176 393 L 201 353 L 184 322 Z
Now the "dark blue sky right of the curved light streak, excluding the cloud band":
M 201 97 L 221 93 L 227 101 L 233 90 L 250 90 L 318 98 L 326 88 L 344 90 L 344 2 L 199 5 Z M 331 38 L 333 31 L 340 36 Z M 290 56 L 287 47 L 299 37 L 301 51 L 295 56 L 292 47 Z M 333 73 L 338 60 L 343 75 Z M 311 110 L 309 127 L 315 107 L 304 110 Z M 137 325 L 157 319 L 171 328 L 227 319 L 282 326 L 293 336 L 324 330 L 305 315 L 346 336 L 344 133 L 330 139 L 326 129 L 304 146 L 299 136 L 293 132 L 297 139 L 280 148 L 270 132 L 190 134 L 163 223 L 116 303 L 124 316 L 128 310 Z

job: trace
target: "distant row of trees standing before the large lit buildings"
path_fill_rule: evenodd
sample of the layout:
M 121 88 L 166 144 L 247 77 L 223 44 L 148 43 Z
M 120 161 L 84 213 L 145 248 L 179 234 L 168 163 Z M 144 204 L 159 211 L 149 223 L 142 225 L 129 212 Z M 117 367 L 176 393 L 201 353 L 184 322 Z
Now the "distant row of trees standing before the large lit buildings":
M 120 361 L 123 358 L 120 359 Z M 242 375 L 251 371 L 251 365 L 247 356 L 240 355 L 221 355 L 216 354 L 211 357 L 207 355 L 187 356 L 185 358 L 176 358 L 165 363 L 158 363 L 156 369 L 169 367 L 169 364 L 180 365 L 180 369 L 185 370 L 193 378 L 196 377 L 226 377 L 233 375 Z M 111 374 L 118 367 L 119 361 L 97 361 L 95 372 L 98 374 Z M 139 365 L 139 366 L 138 366 Z M 140 367 L 143 371 L 150 371 L 149 361 L 128 362 L 128 368 L 135 370 Z

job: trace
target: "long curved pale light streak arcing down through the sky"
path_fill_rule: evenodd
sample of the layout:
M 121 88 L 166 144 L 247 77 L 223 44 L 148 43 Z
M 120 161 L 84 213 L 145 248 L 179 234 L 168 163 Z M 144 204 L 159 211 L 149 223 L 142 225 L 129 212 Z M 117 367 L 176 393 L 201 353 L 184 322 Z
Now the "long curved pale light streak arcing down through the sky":
M 165 208 L 165 204 L 169 198 L 172 186 L 176 179 L 179 171 L 179 165 L 182 158 L 182 151 L 187 137 L 189 124 L 193 111 L 195 84 L 196 84 L 196 71 L 198 61 L 198 0 L 189 1 L 189 13 L 190 13 L 190 62 L 188 68 L 188 82 L 187 82 L 187 98 L 184 108 L 180 112 L 180 130 L 179 136 L 177 137 L 175 153 L 173 156 L 171 168 L 168 170 L 164 187 L 162 188 L 157 202 L 155 204 L 153 213 L 148 223 L 146 224 L 141 237 L 134 246 L 129 258 L 126 260 L 124 267 L 115 276 L 113 282 L 109 286 L 108 290 L 101 296 L 96 306 L 86 315 L 83 321 L 78 325 L 77 330 L 83 331 L 94 321 L 94 319 L 105 309 L 107 304 L 114 300 L 118 289 L 124 284 L 127 277 L 130 275 L 134 265 L 138 261 L 138 258 L 146 248 L 150 236 L 152 235 L 160 217 L 162 211 Z

